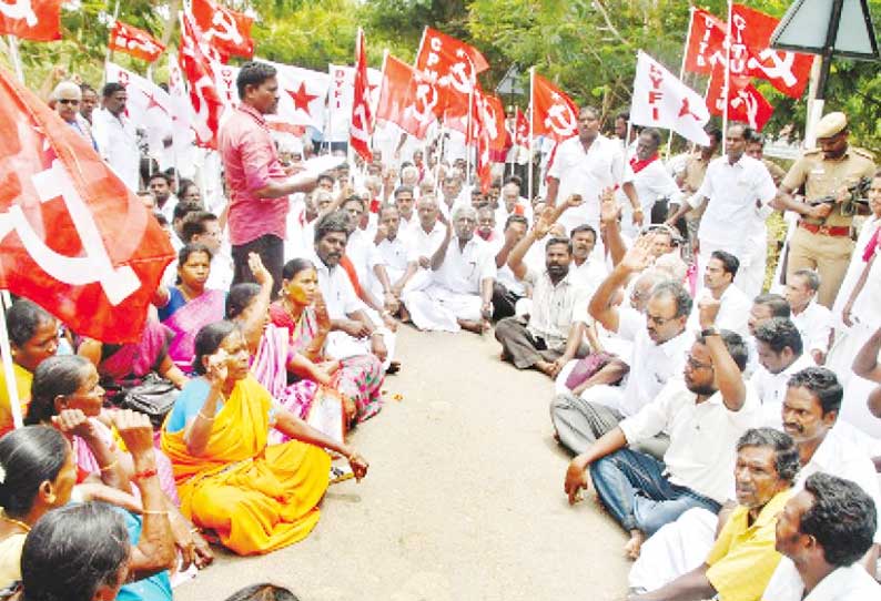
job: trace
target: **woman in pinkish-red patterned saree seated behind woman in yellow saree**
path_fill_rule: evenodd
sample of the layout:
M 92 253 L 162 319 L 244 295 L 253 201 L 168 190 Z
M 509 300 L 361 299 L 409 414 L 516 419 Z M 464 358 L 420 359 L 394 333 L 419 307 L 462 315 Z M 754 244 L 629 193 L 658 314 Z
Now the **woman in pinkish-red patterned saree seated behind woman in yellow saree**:
M 382 409 L 383 366 L 374 355 L 326 360 L 324 340 L 331 329 L 327 308 L 318 289 L 318 275 L 307 259 L 288 261 L 282 272 L 281 299 L 270 305 L 270 320 L 288 337 L 304 376 L 338 390 L 346 416 L 354 425 Z M 297 366 L 295 365 L 295 368 Z

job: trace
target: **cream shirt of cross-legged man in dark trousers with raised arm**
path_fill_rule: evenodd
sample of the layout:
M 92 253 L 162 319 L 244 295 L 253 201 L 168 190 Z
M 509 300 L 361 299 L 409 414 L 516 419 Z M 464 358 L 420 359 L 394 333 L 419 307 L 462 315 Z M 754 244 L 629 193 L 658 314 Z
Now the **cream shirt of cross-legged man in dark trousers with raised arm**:
M 576 322 L 588 323 L 587 292 L 577 286 L 571 273 L 555 286 L 547 269 L 527 271 L 525 279 L 533 284 L 533 307 L 529 310 L 529 334 L 544 338 L 548 348 L 565 348 L 569 330 Z

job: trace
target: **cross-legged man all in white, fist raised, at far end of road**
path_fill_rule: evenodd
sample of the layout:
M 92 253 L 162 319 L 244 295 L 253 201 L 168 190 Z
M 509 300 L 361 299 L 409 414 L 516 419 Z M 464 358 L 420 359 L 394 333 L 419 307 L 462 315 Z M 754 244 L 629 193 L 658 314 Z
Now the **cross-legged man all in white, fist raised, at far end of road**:
M 489 328 L 496 264 L 489 245 L 474 235 L 476 228 L 474 207 L 459 205 L 453 211 L 452 225 L 447 222 L 444 242 L 432 256 L 432 284 L 403 297 L 417 328 L 476 333 Z

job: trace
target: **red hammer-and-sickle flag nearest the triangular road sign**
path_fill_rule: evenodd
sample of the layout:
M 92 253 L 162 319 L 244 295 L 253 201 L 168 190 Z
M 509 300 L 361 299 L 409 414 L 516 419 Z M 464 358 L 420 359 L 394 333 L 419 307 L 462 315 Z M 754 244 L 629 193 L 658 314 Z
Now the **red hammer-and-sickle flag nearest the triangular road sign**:
M 741 4 L 731 9 L 731 73 L 771 82 L 791 98 L 801 98 L 811 75 L 813 57 L 770 48 L 771 33 L 780 22 Z

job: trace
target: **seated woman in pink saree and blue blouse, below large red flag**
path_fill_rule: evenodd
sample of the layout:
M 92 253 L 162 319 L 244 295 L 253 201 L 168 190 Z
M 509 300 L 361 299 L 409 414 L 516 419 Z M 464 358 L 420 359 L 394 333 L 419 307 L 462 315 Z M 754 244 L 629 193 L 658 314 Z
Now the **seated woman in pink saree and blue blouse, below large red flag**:
M 225 291 L 205 289 L 211 274 L 211 251 L 188 244 L 178 255 L 178 284 L 156 291 L 159 318 L 174 334 L 169 356 L 184 374 L 192 371 L 195 335 L 204 326 L 223 319 Z

